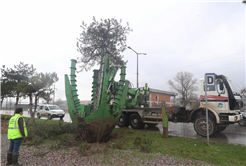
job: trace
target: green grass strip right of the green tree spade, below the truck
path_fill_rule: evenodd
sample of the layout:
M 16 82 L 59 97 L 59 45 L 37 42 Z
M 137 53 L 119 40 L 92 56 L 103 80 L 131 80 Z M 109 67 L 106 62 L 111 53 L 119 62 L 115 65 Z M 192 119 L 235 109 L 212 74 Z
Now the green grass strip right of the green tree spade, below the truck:
M 216 165 L 246 165 L 246 147 L 220 142 L 211 142 L 211 146 L 203 140 L 171 136 L 164 139 L 158 133 L 143 132 L 117 128 L 121 137 L 115 143 L 124 142 L 123 149 L 136 149 L 149 153 L 161 153 L 171 156 L 201 160 Z M 136 147 L 136 142 L 142 142 Z M 144 141 L 143 141 L 144 140 Z M 149 143 L 152 142 L 152 143 Z

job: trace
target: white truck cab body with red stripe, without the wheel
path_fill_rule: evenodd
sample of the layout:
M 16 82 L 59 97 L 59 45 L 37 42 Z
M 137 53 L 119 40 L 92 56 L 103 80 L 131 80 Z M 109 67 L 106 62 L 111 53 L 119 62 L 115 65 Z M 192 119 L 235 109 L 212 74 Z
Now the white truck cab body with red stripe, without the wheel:
M 200 80 L 200 105 L 206 108 L 204 78 Z M 207 108 L 215 115 L 216 123 L 230 124 L 239 121 L 242 106 L 240 95 L 231 80 L 223 75 L 217 75 L 215 87 L 207 87 Z

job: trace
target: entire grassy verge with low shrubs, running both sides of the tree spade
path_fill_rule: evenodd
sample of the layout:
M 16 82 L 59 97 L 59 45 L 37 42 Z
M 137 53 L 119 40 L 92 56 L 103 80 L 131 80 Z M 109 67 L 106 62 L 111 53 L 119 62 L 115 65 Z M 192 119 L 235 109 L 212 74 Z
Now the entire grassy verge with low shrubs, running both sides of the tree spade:
M 3 121 L 6 122 L 10 117 L 0 115 L 0 126 L 2 126 Z M 122 155 L 122 157 L 124 157 L 123 151 L 129 150 L 134 157 L 143 160 L 145 160 L 146 153 L 161 153 L 175 158 L 201 160 L 215 165 L 246 165 L 246 147 L 241 145 L 210 142 L 211 146 L 207 146 L 204 140 L 176 136 L 165 139 L 158 133 L 128 128 L 115 128 L 112 135 L 118 134 L 118 137 L 111 139 L 108 143 L 88 144 L 79 140 L 71 123 L 35 119 L 35 125 L 32 125 L 30 118 L 25 118 L 25 121 L 29 134 L 25 145 L 47 144 L 50 150 L 67 149 L 67 147 L 72 146 L 82 156 L 99 154 L 105 156 Z M 0 128 L 1 132 L 4 133 Z M 43 156 L 46 153 L 48 151 L 39 151 L 33 155 Z M 125 157 L 127 158 L 127 156 Z M 105 164 L 109 164 L 110 157 L 101 157 L 101 160 Z

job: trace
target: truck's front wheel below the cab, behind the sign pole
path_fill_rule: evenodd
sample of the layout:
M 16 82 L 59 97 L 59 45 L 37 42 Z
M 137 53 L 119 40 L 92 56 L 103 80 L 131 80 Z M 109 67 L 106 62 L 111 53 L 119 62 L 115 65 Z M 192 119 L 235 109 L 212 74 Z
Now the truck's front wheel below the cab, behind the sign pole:
M 217 132 L 217 126 L 213 119 L 208 118 L 208 128 L 209 128 L 209 136 L 213 136 Z M 207 123 L 206 117 L 198 117 L 194 123 L 194 129 L 197 134 L 201 135 L 202 137 L 207 136 Z

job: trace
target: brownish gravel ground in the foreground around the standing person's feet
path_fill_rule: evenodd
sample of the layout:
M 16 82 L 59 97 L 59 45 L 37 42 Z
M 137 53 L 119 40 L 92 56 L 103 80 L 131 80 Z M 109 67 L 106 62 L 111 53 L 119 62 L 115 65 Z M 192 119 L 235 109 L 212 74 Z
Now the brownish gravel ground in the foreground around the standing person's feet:
M 7 139 L 8 121 L 0 120 L 0 165 L 7 163 L 7 151 L 9 148 L 9 140 Z M 105 130 L 105 133 L 106 130 Z M 111 133 L 111 132 L 110 132 Z M 89 137 L 88 137 L 89 138 Z M 103 138 L 103 137 L 101 137 Z M 105 137 L 106 138 L 106 137 Z M 116 133 L 111 139 L 119 138 Z M 89 150 L 79 150 L 79 147 L 69 147 L 67 149 L 51 150 L 51 145 L 39 146 L 21 146 L 19 163 L 27 166 L 67 166 L 67 165 L 210 165 L 203 161 L 184 159 L 163 155 L 160 153 L 151 154 L 143 153 L 144 159 L 135 155 L 131 150 L 119 150 L 107 148 L 111 145 L 110 141 L 107 144 L 92 143 Z M 55 145 L 53 145 L 55 146 Z M 111 145 L 113 146 L 113 145 Z

